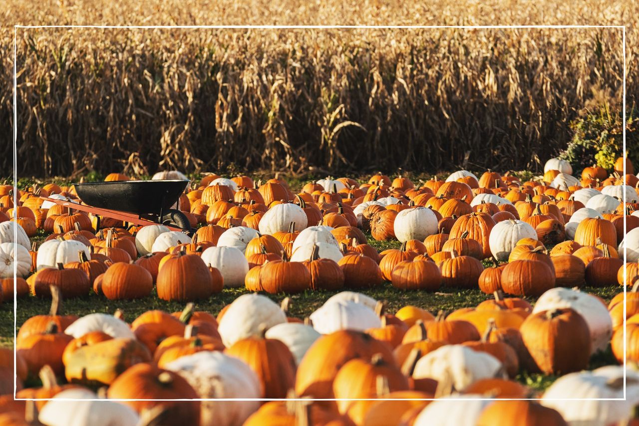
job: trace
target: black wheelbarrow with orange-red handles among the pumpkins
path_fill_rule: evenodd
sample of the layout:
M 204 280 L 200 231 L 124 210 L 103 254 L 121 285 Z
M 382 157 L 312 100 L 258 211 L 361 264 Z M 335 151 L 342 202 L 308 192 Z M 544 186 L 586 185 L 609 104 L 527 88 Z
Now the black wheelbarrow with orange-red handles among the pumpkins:
M 72 210 L 111 217 L 133 225 L 165 225 L 172 231 L 192 232 L 189 219 L 171 209 L 189 184 L 188 180 L 120 180 L 74 184 L 84 204 L 40 197 Z M 86 205 L 85 205 L 86 204 Z M 112 210 L 115 207 L 117 210 Z M 98 225 L 99 228 L 99 225 Z M 97 231 L 97 230 L 96 230 Z

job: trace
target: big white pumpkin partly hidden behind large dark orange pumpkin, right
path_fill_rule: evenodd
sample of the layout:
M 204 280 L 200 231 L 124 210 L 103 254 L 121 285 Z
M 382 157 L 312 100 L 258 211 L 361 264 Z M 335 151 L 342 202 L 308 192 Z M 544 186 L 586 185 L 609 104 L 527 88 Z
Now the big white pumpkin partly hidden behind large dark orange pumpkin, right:
M 572 308 L 580 313 L 590 329 L 592 353 L 605 351 L 612 338 L 612 318 L 606 306 L 597 297 L 576 289 L 551 288 L 537 299 L 532 312 L 543 312 L 555 308 Z

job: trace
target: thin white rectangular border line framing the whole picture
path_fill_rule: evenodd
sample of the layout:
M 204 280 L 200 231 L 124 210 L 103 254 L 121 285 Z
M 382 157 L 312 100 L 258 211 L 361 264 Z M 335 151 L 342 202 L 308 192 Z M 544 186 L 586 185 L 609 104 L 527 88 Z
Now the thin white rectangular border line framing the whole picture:
M 118 25 L 15 25 L 13 26 L 13 193 L 17 194 L 18 183 L 18 163 L 17 163 L 17 139 L 18 139 L 18 112 L 17 112 L 17 34 L 18 29 L 28 28 L 102 28 L 102 29 L 528 29 L 528 28 L 555 28 L 555 29 L 569 29 L 569 28 L 616 28 L 622 29 L 622 54 L 623 54 L 623 67 L 624 67 L 624 80 L 623 80 L 623 99 L 622 99 L 622 119 L 623 119 L 623 153 L 626 153 L 626 26 L 621 25 L 487 25 L 487 26 L 465 26 L 465 25 L 177 25 L 177 26 L 146 26 L 146 25 L 130 25 L 130 26 L 118 26 Z M 624 161 L 624 175 L 626 175 L 626 162 Z M 626 193 L 622 203 L 626 204 Z M 624 215 L 624 235 L 627 233 L 626 216 Z M 17 225 L 14 222 L 13 226 L 13 241 L 17 241 Z M 624 246 L 624 264 L 627 263 L 627 246 Z M 13 265 L 14 280 L 17 277 L 17 265 Z M 627 398 L 626 394 L 626 293 L 627 293 L 627 276 L 624 269 L 624 397 L 623 398 L 548 398 L 546 400 L 557 401 L 624 401 Z M 16 373 L 16 346 L 17 332 L 17 286 L 13 286 L 13 399 L 26 401 L 50 401 L 51 398 L 15 398 L 17 390 L 17 373 Z M 387 401 L 403 401 L 403 400 L 440 400 L 441 398 L 196 398 L 196 399 L 150 399 L 150 401 L 286 401 L 286 400 L 298 400 L 298 401 L 367 401 L 367 400 L 387 400 Z M 70 398 L 56 398 L 60 401 L 104 401 L 105 399 L 70 399 Z M 135 401 L 136 399 L 108 399 L 111 401 Z M 455 398 L 454 400 L 462 401 L 474 401 L 474 400 L 496 400 L 495 398 Z M 498 398 L 497 400 L 534 400 L 541 401 L 542 398 Z

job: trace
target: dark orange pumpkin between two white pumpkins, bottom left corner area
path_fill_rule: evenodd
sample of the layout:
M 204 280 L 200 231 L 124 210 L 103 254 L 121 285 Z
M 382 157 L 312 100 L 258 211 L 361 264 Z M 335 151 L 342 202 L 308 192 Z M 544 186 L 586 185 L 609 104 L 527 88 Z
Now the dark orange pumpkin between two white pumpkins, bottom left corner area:
M 170 401 L 176 398 L 198 398 L 197 392 L 181 375 L 139 363 L 128 368 L 109 386 L 109 398 L 132 399 L 124 402 L 138 413 L 155 406 L 162 406 L 162 423 L 169 425 L 193 424 L 200 421 L 200 402 L 197 400 Z M 153 401 L 152 399 L 167 399 Z

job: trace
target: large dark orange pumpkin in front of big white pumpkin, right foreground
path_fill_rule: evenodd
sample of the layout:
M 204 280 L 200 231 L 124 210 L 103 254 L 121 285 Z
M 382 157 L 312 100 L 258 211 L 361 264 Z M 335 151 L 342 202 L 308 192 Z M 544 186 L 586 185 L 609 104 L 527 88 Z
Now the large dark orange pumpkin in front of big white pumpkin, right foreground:
M 588 366 L 592 341 L 588 323 L 571 308 L 533 313 L 520 327 L 521 338 L 539 370 L 566 374 Z

